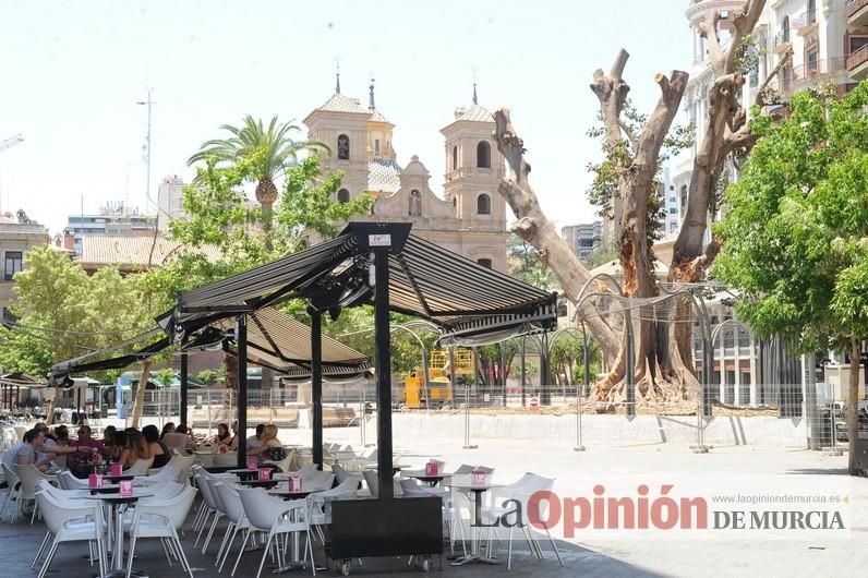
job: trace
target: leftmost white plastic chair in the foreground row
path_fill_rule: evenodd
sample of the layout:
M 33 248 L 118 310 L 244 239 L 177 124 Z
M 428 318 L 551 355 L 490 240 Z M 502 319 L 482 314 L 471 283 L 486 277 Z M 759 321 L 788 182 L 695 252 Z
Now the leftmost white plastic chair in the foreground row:
M 106 554 L 105 530 L 99 505 L 97 503 L 93 505 L 84 503 L 79 505 L 64 504 L 55 499 L 47 492 L 38 492 L 36 494 L 36 503 L 43 513 L 43 519 L 48 527 L 48 531 L 53 535 L 43 567 L 39 568 L 38 578 L 45 577 L 51 565 L 51 559 L 61 543 L 81 541 L 96 542 L 99 574 L 104 576 L 108 556 Z

